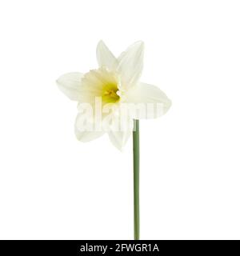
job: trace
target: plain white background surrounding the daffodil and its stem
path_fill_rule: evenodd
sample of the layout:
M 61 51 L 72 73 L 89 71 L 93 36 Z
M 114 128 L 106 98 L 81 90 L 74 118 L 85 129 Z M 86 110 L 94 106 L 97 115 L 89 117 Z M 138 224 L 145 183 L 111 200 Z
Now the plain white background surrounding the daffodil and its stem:
M 0 238 L 132 239 L 132 141 L 74 136 L 54 81 L 145 42 L 171 98 L 141 125 L 141 238 L 240 238 L 239 1 L 2 1 Z

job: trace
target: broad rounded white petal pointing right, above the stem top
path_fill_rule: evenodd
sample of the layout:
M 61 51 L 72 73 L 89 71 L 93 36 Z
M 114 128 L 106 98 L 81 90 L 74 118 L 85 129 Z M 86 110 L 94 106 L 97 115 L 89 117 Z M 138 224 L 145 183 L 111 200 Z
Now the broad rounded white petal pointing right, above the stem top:
M 140 82 L 126 92 L 125 102 L 134 103 L 131 117 L 134 119 L 158 118 L 170 109 L 171 101 L 157 86 Z M 134 111 L 134 109 L 137 111 Z

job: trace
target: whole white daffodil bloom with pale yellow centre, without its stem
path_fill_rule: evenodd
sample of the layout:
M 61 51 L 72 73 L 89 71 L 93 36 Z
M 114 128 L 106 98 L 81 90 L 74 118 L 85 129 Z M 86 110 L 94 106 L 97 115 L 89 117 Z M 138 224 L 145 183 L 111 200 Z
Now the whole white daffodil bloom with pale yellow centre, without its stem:
M 169 110 L 170 99 L 162 90 L 139 82 L 143 51 L 143 42 L 135 42 L 116 58 L 100 41 L 98 69 L 58 78 L 59 89 L 78 102 L 75 134 L 79 141 L 107 133 L 114 146 L 122 149 L 133 130 L 133 119 L 158 118 Z

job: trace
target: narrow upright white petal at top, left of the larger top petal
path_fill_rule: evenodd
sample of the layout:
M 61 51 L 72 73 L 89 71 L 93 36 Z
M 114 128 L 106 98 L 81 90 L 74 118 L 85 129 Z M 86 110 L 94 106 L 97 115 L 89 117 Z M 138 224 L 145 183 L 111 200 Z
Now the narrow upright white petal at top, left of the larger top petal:
M 116 70 L 118 59 L 110 52 L 106 44 L 102 41 L 98 42 L 97 59 L 99 67 L 106 66 L 108 70 Z

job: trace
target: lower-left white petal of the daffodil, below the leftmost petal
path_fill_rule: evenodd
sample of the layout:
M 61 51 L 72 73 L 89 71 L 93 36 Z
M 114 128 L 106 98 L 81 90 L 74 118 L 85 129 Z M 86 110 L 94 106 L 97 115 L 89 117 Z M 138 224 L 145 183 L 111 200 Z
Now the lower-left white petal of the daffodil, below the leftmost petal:
M 88 117 L 84 113 L 79 113 L 75 121 L 75 135 L 81 142 L 90 142 L 101 137 L 105 132 L 96 130 L 94 118 Z

